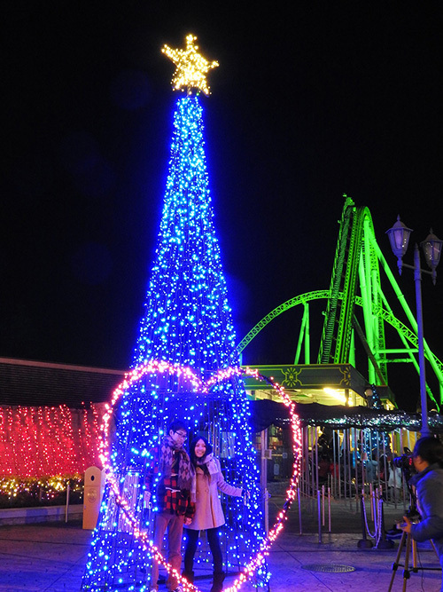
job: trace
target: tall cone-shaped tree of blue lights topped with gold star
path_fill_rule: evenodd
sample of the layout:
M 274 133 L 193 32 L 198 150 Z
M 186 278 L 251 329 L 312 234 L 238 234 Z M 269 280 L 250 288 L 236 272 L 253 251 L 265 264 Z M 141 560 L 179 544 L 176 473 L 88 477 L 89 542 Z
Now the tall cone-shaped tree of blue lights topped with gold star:
M 134 533 L 134 524 L 125 520 L 121 500 L 128 501 L 140 528 L 152 533 L 156 498 L 152 497 L 152 507 L 144 507 L 147 468 L 156 462 L 159 441 L 175 418 L 189 426 L 190 436 L 206 436 L 226 480 L 251 493 L 247 504 L 232 497 L 223 501 L 227 525 L 221 547 L 226 571 L 241 570 L 264 537 L 260 478 L 241 377 L 231 373 L 204 392 L 181 372 L 190 368 L 207 381 L 239 363 L 214 231 L 198 99 L 198 91 L 208 94 L 206 73 L 218 64 L 198 54 L 195 39 L 186 38 L 184 51 L 163 49 L 175 63 L 175 88 L 185 88 L 187 95 L 175 106 L 158 247 L 134 356 L 135 371 L 152 360 L 163 360 L 171 371 L 147 373 L 131 383 L 115 409 L 111 458 L 119 494 L 109 486 L 105 489 L 83 578 L 85 590 L 147 589 L 152 557 Z M 211 572 L 212 559 L 204 544 L 196 559 L 202 568 L 207 563 Z M 257 583 L 265 585 L 266 570 L 259 572 Z

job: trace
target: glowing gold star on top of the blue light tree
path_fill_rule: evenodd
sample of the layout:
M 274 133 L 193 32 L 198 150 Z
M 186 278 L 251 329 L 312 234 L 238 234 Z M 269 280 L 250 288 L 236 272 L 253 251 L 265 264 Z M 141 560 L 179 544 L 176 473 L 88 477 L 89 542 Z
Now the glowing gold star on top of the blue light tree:
M 185 87 L 190 94 L 190 89 L 198 89 L 198 91 L 209 94 L 209 87 L 206 83 L 206 74 L 213 67 L 217 67 L 217 61 L 208 62 L 200 53 L 198 53 L 198 45 L 194 42 L 197 37 L 192 34 L 186 36 L 186 49 L 173 50 L 169 45 L 164 45 L 162 52 L 167 55 L 175 64 L 175 73 L 172 78 L 174 90 L 178 91 Z

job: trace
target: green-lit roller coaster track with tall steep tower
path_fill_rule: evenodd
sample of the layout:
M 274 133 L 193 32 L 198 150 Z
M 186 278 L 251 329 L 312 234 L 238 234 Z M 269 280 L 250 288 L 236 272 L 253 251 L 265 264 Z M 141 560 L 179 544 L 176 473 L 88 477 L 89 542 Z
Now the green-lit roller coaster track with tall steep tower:
M 345 196 L 346 197 L 346 196 Z M 410 328 L 398 320 L 385 297 L 380 282 L 380 267 L 391 284 L 401 308 L 405 312 Z M 385 257 L 377 245 L 374 226 L 369 209 L 356 207 L 346 197 L 343 209 L 338 243 L 335 253 L 330 288 L 295 296 L 280 304 L 260 320 L 238 344 L 243 351 L 248 343 L 265 328 L 271 320 L 294 306 L 303 304 L 299 341 L 294 364 L 304 344 L 305 364 L 309 359 L 309 302 L 325 299 L 323 333 L 318 352 L 318 364 L 354 364 L 354 335 L 357 335 L 369 359 L 369 383 L 388 384 L 387 365 L 390 362 L 409 362 L 419 373 L 416 352 L 418 348 L 417 327 L 400 286 L 395 280 Z M 355 307 L 362 308 L 362 327 L 355 315 Z M 385 323 L 392 326 L 400 337 L 402 347 L 386 349 Z M 389 359 L 387 354 L 400 354 L 400 359 Z M 439 408 L 443 399 L 443 364 L 424 342 L 424 355 L 439 381 L 439 401 L 426 384 L 429 398 Z

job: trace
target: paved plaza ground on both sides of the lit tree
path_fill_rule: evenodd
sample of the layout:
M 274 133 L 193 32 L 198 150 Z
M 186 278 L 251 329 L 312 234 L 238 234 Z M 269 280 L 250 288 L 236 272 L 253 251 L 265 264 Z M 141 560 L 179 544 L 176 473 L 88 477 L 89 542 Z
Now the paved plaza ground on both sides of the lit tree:
M 352 512 L 350 513 L 352 516 Z M 346 523 L 346 518 L 343 519 Z M 355 525 L 357 521 L 350 521 Z M 291 526 L 291 525 L 289 525 Z M 90 532 L 79 522 L 44 523 L 0 527 L 0 590 L 2 592 L 78 592 L 89 549 Z M 291 532 L 288 528 L 274 544 L 268 560 L 272 573 L 271 592 L 291 590 L 368 590 L 386 592 L 392 577 L 392 563 L 398 541 L 392 549 L 358 548 L 359 533 L 318 534 Z M 419 564 L 438 567 L 429 547 L 419 546 Z M 401 556 L 400 563 L 404 560 Z M 345 565 L 350 572 L 324 572 Z M 307 569 L 310 567 L 310 569 Z M 441 572 L 411 573 L 409 592 L 436 592 Z M 229 581 L 226 582 L 227 584 Z M 198 579 L 198 588 L 208 592 L 210 580 Z M 403 586 L 402 567 L 396 572 L 393 592 Z M 251 585 L 243 588 L 250 592 Z M 160 588 L 163 592 L 166 588 Z

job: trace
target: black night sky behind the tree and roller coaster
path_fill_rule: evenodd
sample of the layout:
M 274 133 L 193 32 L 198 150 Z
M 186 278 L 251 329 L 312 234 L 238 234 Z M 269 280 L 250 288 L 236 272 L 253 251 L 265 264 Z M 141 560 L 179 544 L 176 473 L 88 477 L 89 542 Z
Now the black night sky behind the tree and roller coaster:
M 430 227 L 443 238 L 441 4 L 239 4 L 9 2 L 0 357 L 131 363 L 178 98 L 160 48 L 190 32 L 220 63 L 201 104 L 238 341 L 278 304 L 329 288 L 343 193 L 369 207 L 394 271 L 385 230 L 398 214 L 414 241 Z M 439 359 L 441 277 L 423 282 Z M 415 311 L 412 272 L 400 287 Z M 312 307 L 312 361 L 324 307 Z M 245 363 L 291 363 L 300 318 L 269 325 Z M 392 391 L 413 407 L 418 377 L 395 366 Z

